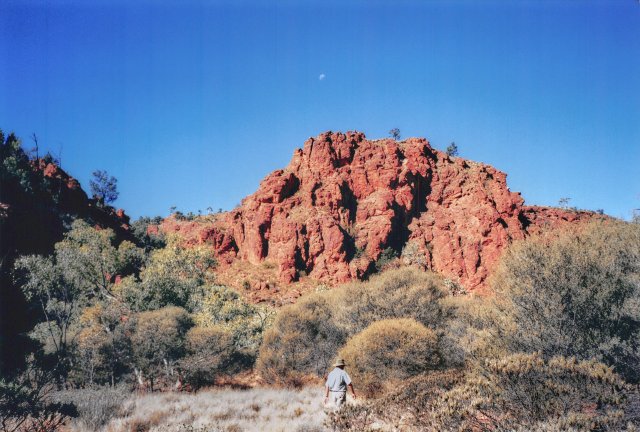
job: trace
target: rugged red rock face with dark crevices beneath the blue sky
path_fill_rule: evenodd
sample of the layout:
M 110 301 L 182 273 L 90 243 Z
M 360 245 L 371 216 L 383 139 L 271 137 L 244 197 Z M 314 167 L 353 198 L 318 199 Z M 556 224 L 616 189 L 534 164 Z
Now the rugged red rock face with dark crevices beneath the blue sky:
M 237 209 L 197 229 L 174 219 L 163 229 L 211 244 L 223 266 L 273 263 L 284 284 L 301 274 L 328 283 L 362 278 L 384 253 L 475 289 L 512 240 L 591 215 L 524 206 L 506 174 L 425 139 L 327 132 Z

